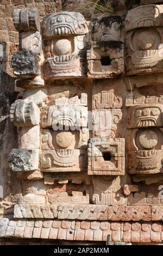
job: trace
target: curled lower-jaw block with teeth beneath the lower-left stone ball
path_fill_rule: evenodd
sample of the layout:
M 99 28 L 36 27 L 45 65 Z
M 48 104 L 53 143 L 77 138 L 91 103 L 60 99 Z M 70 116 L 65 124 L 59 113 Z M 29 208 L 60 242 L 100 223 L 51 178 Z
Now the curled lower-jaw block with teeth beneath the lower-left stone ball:
M 41 172 L 83 172 L 87 169 L 84 149 L 55 149 L 41 153 Z

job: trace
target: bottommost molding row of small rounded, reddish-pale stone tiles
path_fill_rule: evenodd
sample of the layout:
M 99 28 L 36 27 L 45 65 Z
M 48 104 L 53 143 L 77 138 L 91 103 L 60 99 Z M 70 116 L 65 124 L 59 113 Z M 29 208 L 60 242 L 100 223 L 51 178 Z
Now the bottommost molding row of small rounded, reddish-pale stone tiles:
M 0 220 L 0 237 L 59 239 L 76 241 L 106 241 L 109 234 L 114 242 L 160 243 L 163 241 L 162 224 L 105 221 L 60 220 Z

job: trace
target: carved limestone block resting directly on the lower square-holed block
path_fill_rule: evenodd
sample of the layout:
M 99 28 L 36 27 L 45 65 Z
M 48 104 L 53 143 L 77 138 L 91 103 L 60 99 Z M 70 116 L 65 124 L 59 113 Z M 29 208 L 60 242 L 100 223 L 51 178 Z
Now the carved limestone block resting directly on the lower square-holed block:
M 93 109 L 92 134 L 95 138 L 121 138 L 123 133 L 121 109 Z

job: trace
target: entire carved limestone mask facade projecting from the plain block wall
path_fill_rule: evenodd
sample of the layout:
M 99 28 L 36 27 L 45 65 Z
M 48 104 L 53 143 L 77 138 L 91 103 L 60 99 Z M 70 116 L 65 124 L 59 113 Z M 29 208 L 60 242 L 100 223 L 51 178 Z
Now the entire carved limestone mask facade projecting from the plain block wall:
M 40 22 L 36 8 L 14 11 L 20 47 L 11 63 L 23 90 L 10 107 L 18 147 L 8 161 L 23 193 L 1 236 L 20 220 L 25 234 L 28 218 L 41 238 L 162 234 L 162 13 L 147 3 L 124 19 L 62 11 Z

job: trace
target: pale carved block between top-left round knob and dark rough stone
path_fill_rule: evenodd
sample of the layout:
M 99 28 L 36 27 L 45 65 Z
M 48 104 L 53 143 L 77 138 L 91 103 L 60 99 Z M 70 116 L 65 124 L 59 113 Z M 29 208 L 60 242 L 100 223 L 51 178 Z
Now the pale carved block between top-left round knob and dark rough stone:
M 39 32 L 32 31 L 20 33 L 21 51 L 33 51 L 37 54 L 41 53 L 42 40 Z

